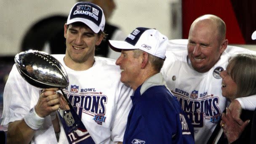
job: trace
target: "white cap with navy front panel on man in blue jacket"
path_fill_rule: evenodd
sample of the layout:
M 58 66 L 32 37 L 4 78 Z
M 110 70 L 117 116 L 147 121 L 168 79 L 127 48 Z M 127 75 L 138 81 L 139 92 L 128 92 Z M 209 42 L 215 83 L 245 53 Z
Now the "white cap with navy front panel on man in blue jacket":
M 145 27 L 134 29 L 125 41 L 109 40 L 109 46 L 114 51 L 140 49 L 161 59 L 165 59 L 167 44 L 168 38 L 165 35 L 162 35 L 156 29 Z

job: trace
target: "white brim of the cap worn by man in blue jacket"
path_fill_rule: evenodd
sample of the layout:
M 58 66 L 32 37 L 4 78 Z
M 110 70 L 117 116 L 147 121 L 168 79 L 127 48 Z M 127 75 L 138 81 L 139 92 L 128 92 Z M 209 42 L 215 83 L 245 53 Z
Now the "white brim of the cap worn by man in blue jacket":
M 134 45 L 131 45 L 130 43 L 127 43 L 125 41 L 119 41 L 119 40 L 109 40 L 109 47 L 117 52 L 121 52 L 122 50 L 133 50 L 133 49 L 139 49 L 136 48 Z

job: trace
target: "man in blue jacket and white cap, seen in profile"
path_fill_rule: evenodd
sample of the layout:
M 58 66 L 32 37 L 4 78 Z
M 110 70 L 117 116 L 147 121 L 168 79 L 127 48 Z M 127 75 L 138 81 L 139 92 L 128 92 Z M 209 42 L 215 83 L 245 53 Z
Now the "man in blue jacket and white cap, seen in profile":
M 194 143 L 192 125 L 160 73 L 167 43 L 165 35 L 144 27 L 125 41 L 109 40 L 110 47 L 121 52 L 116 61 L 121 82 L 134 90 L 124 144 Z

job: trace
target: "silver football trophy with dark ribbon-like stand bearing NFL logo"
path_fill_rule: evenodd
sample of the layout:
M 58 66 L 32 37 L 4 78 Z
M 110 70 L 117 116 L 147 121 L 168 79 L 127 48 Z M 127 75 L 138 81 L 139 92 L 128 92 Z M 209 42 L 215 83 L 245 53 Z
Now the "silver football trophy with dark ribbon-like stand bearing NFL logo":
M 47 53 L 29 50 L 17 54 L 15 64 L 24 80 L 31 85 L 42 90 L 58 88 L 61 91 L 63 95 L 59 99 L 58 114 L 69 143 L 95 144 L 62 91 L 69 85 L 69 79 L 61 63 Z

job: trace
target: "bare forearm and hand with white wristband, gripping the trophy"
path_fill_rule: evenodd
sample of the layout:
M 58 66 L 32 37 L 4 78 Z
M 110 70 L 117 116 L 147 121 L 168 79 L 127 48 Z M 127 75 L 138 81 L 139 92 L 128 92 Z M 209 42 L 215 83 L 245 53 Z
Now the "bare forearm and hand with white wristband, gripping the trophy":
M 25 115 L 23 120 L 9 123 L 7 131 L 8 144 L 28 144 L 32 140 L 35 131 L 42 125 L 44 117 L 59 108 L 58 98 L 59 96 L 56 94 L 55 89 L 41 93 L 35 108 Z

